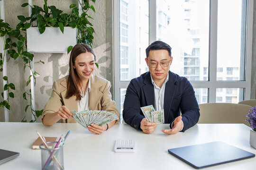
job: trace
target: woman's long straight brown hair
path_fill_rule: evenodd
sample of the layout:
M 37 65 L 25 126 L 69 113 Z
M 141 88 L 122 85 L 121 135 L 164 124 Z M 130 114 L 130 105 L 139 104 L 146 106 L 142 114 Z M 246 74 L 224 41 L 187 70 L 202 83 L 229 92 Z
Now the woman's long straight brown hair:
M 78 85 L 82 83 L 82 80 L 78 76 L 76 70 L 73 68 L 74 61 L 79 54 L 91 52 L 94 56 L 94 60 L 96 60 L 95 54 L 92 51 L 91 47 L 84 43 L 76 44 L 70 54 L 69 59 L 69 75 L 67 77 L 67 92 L 66 92 L 66 99 L 69 99 L 73 95 L 76 96 L 76 100 L 81 100 L 80 91 Z

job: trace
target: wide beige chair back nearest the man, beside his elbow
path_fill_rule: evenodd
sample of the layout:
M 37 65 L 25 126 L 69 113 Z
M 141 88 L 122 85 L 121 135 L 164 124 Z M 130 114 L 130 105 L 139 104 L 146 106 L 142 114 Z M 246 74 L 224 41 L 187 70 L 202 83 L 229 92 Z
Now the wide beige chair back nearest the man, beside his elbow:
M 200 118 L 198 123 L 243 123 L 251 106 L 235 103 L 204 103 L 199 104 Z

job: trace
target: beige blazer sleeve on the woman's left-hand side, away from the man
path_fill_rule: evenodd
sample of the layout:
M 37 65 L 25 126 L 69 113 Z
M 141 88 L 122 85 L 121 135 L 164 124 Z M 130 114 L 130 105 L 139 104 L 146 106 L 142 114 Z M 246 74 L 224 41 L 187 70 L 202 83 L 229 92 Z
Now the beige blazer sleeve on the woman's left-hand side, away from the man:
M 60 92 L 58 91 L 59 85 L 58 85 L 57 81 L 54 82 L 52 88 L 53 88 L 52 95 L 51 95 L 49 101 L 46 103 L 43 114 L 41 116 L 42 122 L 47 113 L 55 113 L 63 105 Z

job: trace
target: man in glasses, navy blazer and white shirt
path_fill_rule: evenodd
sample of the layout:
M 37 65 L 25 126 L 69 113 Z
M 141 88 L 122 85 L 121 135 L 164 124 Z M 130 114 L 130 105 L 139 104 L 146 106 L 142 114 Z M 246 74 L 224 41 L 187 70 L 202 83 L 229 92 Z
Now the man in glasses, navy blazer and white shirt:
M 148 122 L 140 107 L 152 104 L 155 110 L 164 109 L 164 121 L 170 123 L 171 128 L 162 130 L 166 134 L 184 132 L 194 126 L 200 116 L 190 82 L 169 71 L 173 61 L 171 50 L 165 42 L 151 43 L 146 48 L 145 59 L 149 72 L 132 79 L 126 91 L 123 119 L 146 134 L 155 131 L 156 123 Z

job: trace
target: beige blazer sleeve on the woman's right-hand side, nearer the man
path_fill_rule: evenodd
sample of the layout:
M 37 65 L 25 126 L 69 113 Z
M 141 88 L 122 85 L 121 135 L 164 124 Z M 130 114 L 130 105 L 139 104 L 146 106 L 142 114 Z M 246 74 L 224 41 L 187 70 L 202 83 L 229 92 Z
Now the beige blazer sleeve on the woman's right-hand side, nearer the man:
M 110 93 L 110 87 L 111 87 L 110 81 L 107 81 L 102 91 L 101 110 L 106 110 L 108 112 L 116 114 L 119 119 L 116 120 L 115 124 L 118 124 L 120 121 L 120 113 L 117 109 L 116 103 L 111 99 L 112 96 Z

